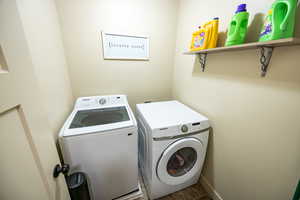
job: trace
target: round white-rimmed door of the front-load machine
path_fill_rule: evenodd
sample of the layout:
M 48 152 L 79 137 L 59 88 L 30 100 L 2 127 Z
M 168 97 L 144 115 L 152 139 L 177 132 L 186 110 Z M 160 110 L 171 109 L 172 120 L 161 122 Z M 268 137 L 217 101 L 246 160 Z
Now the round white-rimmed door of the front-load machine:
M 182 184 L 202 168 L 204 147 L 195 138 L 180 139 L 162 153 L 156 168 L 160 181 L 168 185 Z

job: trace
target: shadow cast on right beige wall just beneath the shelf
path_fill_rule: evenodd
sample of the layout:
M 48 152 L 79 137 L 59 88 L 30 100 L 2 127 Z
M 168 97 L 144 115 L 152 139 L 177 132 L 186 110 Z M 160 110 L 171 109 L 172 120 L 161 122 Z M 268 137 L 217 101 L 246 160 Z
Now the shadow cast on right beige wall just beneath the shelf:
M 196 56 L 192 77 L 269 84 L 274 87 L 295 87 L 300 84 L 299 55 L 300 46 L 275 48 L 264 78 L 261 77 L 259 50 L 208 54 L 204 72 L 199 57 Z

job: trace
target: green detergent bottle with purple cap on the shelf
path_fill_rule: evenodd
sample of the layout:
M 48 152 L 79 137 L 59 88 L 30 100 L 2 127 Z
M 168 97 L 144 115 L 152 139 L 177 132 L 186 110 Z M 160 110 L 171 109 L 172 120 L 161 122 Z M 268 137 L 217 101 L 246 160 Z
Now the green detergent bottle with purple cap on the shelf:
M 225 46 L 243 44 L 247 34 L 249 13 L 246 4 L 240 4 L 230 22 Z

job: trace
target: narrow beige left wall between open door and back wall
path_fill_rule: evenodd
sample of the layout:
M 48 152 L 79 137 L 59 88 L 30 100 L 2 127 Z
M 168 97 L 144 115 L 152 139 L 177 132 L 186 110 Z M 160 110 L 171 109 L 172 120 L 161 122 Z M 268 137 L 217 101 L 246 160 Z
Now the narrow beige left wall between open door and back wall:
M 73 96 L 55 2 L 17 2 L 43 103 L 57 136 L 73 106 Z

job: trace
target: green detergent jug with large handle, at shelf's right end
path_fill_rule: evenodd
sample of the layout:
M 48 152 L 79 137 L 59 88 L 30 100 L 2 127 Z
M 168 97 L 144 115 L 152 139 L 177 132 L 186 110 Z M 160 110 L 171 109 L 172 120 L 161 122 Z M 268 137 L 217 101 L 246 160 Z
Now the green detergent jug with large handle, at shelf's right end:
M 297 0 L 277 0 L 268 11 L 259 41 L 293 37 Z

